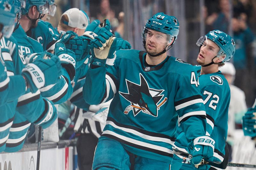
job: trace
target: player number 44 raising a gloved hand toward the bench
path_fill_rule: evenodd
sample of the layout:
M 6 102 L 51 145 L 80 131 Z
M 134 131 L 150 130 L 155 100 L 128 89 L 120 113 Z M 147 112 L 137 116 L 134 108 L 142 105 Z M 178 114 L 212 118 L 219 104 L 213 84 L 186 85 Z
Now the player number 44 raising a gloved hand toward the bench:
M 196 72 L 166 54 L 178 33 L 177 18 L 161 12 L 144 26 L 147 52 L 116 52 L 115 37 L 107 31 L 91 41 L 94 48 L 84 99 L 99 104 L 113 98 L 93 169 L 170 169 L 177 121 L 191 145 L 200 148 L 193 152 L 195 165 L 200 167 L 203 157 L 213 155 L 215 142 L 205 135 L 206 115 Z M 211 142 L 201 142 L 206 140 Z

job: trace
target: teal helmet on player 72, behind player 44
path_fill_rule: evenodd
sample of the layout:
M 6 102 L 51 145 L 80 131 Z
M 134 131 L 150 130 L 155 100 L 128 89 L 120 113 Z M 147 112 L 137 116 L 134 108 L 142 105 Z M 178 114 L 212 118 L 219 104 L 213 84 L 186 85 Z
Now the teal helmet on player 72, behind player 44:
M 215 44 L 218 45 L 220 51 L 216 56 L 219 57 L 223 63 L 229 61 L 235 54 L 235 41 L 228 34 L 220 30 L 210 31 L 206 35 L 199 38 L 198 41 L 196 42 L 196 45 L 203 45 L 204 41 L 207 41 L 207 39 L 212 40 Z

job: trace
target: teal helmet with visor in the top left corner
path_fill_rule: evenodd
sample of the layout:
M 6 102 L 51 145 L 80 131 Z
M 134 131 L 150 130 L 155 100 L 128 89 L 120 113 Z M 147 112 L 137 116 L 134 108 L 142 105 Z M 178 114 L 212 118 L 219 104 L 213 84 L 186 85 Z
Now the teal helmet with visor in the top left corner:
M 16 19 L 14 0 L 0 1 L 0 18 L 0 30 L 4 37 L 9 38 L 12 35 Z

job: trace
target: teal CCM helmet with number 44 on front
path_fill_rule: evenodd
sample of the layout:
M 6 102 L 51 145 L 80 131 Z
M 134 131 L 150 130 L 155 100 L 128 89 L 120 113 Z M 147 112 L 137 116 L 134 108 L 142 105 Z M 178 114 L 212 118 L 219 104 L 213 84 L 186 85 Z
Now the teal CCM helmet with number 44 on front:
M 147 29 L 152 29 L 170 35 L 168 43 L 173 44 L 179 34 L 179 27 L 180 24 L 176 17 L 166 15 L 164 12 L 158 12 L 148 19 L 142 30 L 142 38 L 146 38 L 145 33 L 147 32 Z

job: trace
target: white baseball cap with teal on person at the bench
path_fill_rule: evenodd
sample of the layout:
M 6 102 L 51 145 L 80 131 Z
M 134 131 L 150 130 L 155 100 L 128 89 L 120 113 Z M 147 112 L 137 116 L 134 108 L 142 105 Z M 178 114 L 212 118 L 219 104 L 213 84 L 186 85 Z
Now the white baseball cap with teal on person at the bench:
M 90 24 L 90 19 L 83 10 L 79 10 L 78 8 L 70 8 L 69 10 L 65 11 L 61 17 L 65 14 L 68 16 L 68 22 L 64 20 L 62 20 L 62 22 L 70 27 L 85 29 L 88 24 Z

